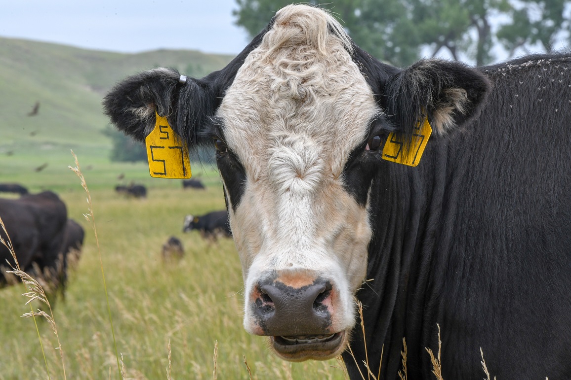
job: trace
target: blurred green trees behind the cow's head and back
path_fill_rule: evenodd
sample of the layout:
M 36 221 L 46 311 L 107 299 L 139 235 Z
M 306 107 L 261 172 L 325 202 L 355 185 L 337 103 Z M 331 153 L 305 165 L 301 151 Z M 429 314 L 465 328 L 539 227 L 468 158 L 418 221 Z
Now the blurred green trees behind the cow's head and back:
M 236 0 L 236 24 L 253 37 L 288 0 Z M 333 0 L 324 7 L 339 19 L 351 38 L 369 54 L 397 66 L 420 58 L 422 48 L 432 56 L 447 51 L 453 59 L 467 56 L 477 64 L 493 62 L 499 39 L 512 52 L 540 43 L 551 51 L 561 32 L 571 29 L 565 0 Z M 534 12 L 532 12 L 535 10 Z M 537 11 L 539 10 L 539 11 Z M 538 14 L 536 18 L 532 16 Z M 496 30 L 500 15 L 509 21 Z

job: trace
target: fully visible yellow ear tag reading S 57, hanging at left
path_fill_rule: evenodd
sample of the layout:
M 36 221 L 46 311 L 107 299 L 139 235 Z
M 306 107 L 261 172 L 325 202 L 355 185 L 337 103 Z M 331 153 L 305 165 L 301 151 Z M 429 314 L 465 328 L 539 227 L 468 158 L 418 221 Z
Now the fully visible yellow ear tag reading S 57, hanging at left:
M 156 115 L 155 128 L 144 139 L 148 171 L 155 178 L 190 178 L 188 147 L 168 125 L 166 117 Z

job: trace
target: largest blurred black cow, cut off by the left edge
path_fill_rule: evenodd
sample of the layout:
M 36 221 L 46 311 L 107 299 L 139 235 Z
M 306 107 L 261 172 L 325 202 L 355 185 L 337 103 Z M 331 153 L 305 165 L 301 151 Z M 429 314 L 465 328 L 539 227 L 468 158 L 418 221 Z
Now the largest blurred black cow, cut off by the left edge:
M 67 208 L 58 195 L 43 191 L 18 199 L 0 198 L 0 218 L 19 268 L 33 277 L 45 277 L 48 284 L 53 285 L 47 292 L 65 287 L 66 263 L 62 247 L 66 239 Z M 0 236 L 8 240 L 3 230 L 0 230 Z M 4 244 L 0 244 L 0 267 L 2 273 L 10 267 L 17 268 Z M 6 284 L 5 276 L 0 276 L 0 287 Z

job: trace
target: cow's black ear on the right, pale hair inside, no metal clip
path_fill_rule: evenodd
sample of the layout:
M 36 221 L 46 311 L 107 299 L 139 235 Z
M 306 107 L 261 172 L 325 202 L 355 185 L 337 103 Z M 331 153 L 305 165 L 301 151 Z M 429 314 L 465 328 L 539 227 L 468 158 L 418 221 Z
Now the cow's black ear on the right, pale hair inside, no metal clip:
M 405 136 L 411 136 L 423 113 L 436 136 L 480 112 L 490 83 L 477 69 L 460 62 L 425 59 L 391 77 L 382 102 L 385 113 Z

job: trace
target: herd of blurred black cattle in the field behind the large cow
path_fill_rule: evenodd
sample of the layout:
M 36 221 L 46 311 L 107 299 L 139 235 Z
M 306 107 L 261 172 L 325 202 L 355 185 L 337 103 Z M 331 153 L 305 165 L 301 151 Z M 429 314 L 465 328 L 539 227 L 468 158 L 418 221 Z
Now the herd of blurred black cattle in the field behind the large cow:
M 206 189 L 198 179 L 183 180 L 183 189 Z M 131 183 L 115 187 L 118 194 L 133 198 L 146 198 L 147 188 Z M 19 198 L 0 198 L 0 218 L 6 232 L 0 229 L 0 238 L 11 242 L 19 268 L 35 279 L 42 280 L 47 290 L 61 292 L 65 296 L 67 271 L 79 260 L 85 231 L 83 227 L 68 218 L 65 203 L 53 191 L 30 194 L 18 183 L 0 183 L 0 193 L 19 194 Z M 218 238 L 230 237 L 230 225 L 226 210 L 205 215 L 187 215 L 183 232 L 196 230 L 200 235 L 216 242 Z M 162 247 L 165 261 L 180 260 L 184 248 L 180 239 L 171 236 Z M 15 276 L 6 271 L 18 266 L 12 252 L 0 244 L 0 288 L 17 282 Z

